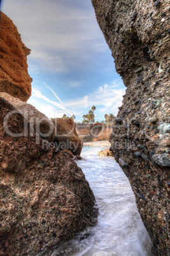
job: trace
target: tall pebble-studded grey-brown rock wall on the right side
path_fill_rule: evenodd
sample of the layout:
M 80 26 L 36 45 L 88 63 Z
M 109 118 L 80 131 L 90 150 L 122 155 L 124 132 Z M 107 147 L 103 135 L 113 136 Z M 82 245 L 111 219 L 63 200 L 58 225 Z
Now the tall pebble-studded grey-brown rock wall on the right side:
M 155 252 L 169 255 L 169 1 L 92 0 L 126 95 L 110 141 Z

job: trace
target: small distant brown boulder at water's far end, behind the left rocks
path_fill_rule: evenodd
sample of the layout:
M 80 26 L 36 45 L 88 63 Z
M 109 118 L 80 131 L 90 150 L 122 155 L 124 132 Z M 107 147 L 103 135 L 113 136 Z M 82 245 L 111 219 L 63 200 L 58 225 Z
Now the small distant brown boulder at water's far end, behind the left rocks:
M 77 135 L 76 124 L 72 118 L 54 118 L 53 124 L 56 127 L 56 135 L 53 141 L 56 148 L 70 150 L 74 155 L 80 155 L 82 141 Z

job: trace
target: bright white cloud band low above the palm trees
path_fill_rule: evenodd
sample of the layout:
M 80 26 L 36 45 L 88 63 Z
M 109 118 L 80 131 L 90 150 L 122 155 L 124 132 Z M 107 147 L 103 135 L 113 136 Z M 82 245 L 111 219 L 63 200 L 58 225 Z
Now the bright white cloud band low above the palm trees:
M 37 89 L 32 89 L 32 96 L 28 103 L 35 106 L 39 111 L 48 117 L 62 117 L 65 113 L 69 117 L 75 115 L 82 117 L 84 112 L 91 109 L 91 106 L 96 106 L 96 118 L 103 119 L 105 113 L 113 113 L 117 115 L 119 106 L 122 104 L 122 96 L 125 89 L 119 89 L 120 83 L 114 82 L 111 85 L 103 85 L 98 87 L 93 93 L 86 95 L 82 98 L 72 99 L 72 101 L 64 101 L 63 105 L 51 101 L 48 97 L 41 94 Z M 48 104 L 42 104 L 42 100 Z

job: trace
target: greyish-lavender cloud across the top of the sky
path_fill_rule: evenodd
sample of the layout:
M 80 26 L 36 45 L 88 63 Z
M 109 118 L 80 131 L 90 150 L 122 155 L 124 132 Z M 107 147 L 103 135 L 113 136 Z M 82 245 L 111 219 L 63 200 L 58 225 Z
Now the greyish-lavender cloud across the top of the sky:
M 79 1 L 4 1 L 4 13 L 32 50 L 31 71 L 35 71 L 36 61 L 41 71 L 69 72 L 76 66 L 87 66 L 84 64 L 93 59 L 92 52 L 105 51 L 93 8 L 82 8 Z

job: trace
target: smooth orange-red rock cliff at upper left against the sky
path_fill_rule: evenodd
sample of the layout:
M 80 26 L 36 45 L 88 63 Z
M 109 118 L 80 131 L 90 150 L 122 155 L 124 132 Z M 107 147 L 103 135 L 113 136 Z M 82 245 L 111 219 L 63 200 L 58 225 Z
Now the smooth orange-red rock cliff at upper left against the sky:
M 29 48 L 23 43 L 13 22 L 4 13 L 0 23 L 0 92 L 27 101 L 32 78 L 27 71 Z

